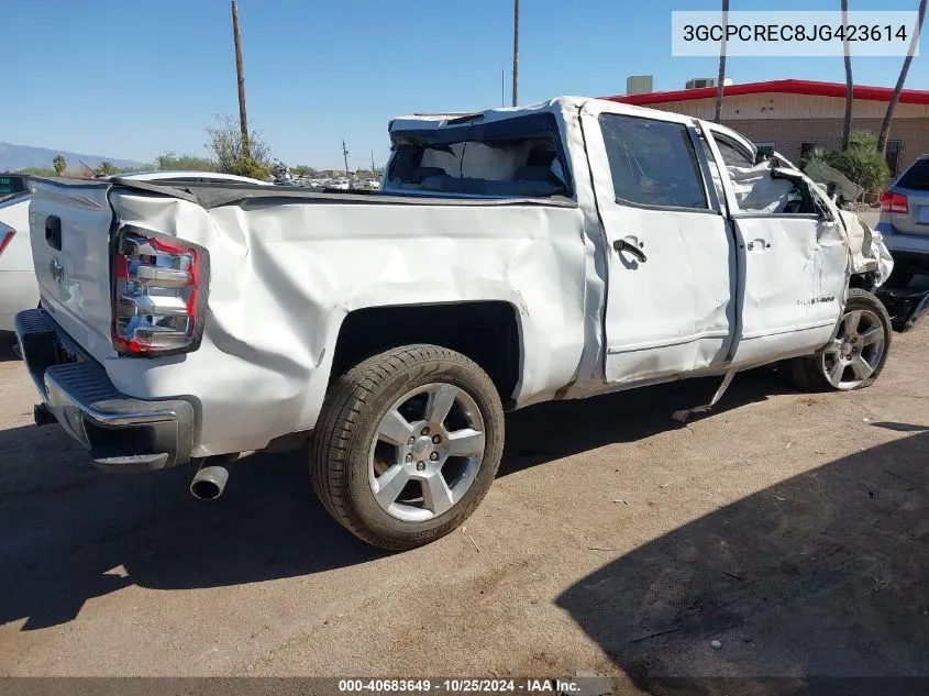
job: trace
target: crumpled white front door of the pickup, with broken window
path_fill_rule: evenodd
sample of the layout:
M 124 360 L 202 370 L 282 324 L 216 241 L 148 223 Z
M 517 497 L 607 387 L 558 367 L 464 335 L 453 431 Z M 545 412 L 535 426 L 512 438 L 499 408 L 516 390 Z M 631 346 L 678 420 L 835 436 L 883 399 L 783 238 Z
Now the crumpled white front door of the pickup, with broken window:
M 808 355 L 838 325 L 848 284 L 848 245 L 825 198 L 798 172 L 745 162 L 708 129 L 723 178 L 739 256 L 737 365 Z M 748 155 L 745 155 L 748 157 Z

